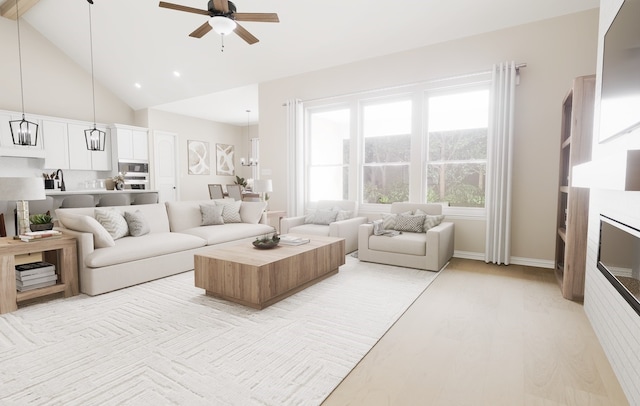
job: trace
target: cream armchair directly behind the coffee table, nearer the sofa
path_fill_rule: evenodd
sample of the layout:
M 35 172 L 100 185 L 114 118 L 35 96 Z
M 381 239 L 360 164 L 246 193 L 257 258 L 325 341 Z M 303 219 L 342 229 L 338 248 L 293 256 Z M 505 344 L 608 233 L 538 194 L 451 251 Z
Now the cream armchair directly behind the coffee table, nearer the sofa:
M 317 210 L 306 216 L 285 217 L 280 221 L 282 234 L 306 234 L 345 239 L 347 253 L 358 249 L 358 226 L 368 221 L 358 217 L 356 202 L 320 200 Z

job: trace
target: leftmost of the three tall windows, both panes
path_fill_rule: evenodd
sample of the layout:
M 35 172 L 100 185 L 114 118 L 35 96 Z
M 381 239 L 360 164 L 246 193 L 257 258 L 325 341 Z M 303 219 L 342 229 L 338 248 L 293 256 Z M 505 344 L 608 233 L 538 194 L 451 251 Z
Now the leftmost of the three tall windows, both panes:
M 310 111 L 307 118 L 308 200 L 347 200 L 350 110 Z

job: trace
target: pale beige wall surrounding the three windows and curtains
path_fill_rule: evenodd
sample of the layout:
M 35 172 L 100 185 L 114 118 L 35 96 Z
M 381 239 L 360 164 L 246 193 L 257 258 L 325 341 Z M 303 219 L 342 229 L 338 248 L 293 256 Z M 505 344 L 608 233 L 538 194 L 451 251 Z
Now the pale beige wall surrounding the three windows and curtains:
M 260 84 L 260 158 L 272 171 L 270 207 L 287 208 L 286 100 L 424 82 L 515 60 L 527 67 L 517 89 L 512 254 L 552 267 L 561 103 L 574 77 L 595 72 L 597 32 L 598 11 L 590 10 Z M 456 251 L 483 252 L 484 223 L 453 220 Z

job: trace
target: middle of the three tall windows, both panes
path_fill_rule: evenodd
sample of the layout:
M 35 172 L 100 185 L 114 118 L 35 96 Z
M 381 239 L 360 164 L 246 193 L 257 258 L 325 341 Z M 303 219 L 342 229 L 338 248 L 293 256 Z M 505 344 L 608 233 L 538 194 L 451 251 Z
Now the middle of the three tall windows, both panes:
M 401 100 L 362 108 L 364 203 L 409 199 L 411 106 L 411 100 Z

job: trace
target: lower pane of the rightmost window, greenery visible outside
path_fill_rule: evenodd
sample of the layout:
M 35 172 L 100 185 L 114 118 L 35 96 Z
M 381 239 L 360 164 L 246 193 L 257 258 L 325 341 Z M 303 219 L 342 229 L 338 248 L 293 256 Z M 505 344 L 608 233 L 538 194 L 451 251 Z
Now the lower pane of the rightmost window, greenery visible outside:
M 486 165 L 427 165 L 427 201 L 457 207 L 484 207 Z

